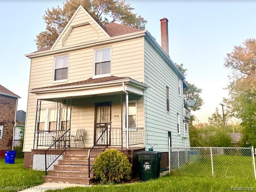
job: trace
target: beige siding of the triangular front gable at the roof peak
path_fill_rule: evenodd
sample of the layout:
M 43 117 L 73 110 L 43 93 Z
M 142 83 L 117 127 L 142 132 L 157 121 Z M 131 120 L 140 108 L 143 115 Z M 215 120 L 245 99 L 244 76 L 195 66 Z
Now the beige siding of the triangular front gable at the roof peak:
M 86 25 L 86 27 L 85 26 L 80 26 L 80 27 L 73 28 L 73 30 L 70 32 L 70 34 L 68 34 L 68 31 L 70 30 L 71 26 L 76 26 L 76 25 L 83 24 L 83 23 L 89 23 L 89 24 Z M 90 30 L 85 30 L 88 27 L 93 28 L 94 34 L 92 34 Z M 80 29 L 83 29 L 83 30 L 80 30 Z M 67 38 L 66 37 L 67 34 L 69 36 L 70 35 L 71 36 Z M 76 36 L 76 37 L 72 37 L 72 36 Z M 97 38 L 95 38 L 95 36 Z M 72 22 L 66 28 L 66 30 L 64 31 L 62 36 L 60 36 L 60 38 L 58 39 L 58 42 L 56 42 L 53 49 L 62 48 L 62 40 L 65 37 L 66 37 L 66 40 L 64 42 L 65 46 L 69 46 L 69 45 L 72 45 L 72 44 L 78 44 L 78 43 L 82 43 L 82 42 L 89 42 L 89 41 L 93 41 L 93 40 L 102 40 L 102 39 L 108 38 L 108 36 L 104 32 L 104 30 L 102 28 L 100 28 L 98 26 L 98 24 L 96 24 L 96 21 L 92 20 L 84 12 L 84 10 L 82 10 L 82 8 L 80 8 L 78 10 L 78 12 L 74 16 Z M 84 40 L 82 40 L 83 37 L 85 37 Z M 86 38 L 86 37 L 91 37 L 91 38 Z M 75 41 L 74 39 L 79 40 L 79 41 Z

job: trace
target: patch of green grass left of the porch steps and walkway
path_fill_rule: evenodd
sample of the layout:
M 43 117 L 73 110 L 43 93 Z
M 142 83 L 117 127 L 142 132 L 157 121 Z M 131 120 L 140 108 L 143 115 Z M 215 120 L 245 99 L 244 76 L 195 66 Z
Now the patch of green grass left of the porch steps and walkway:
M 42 171 L 23 167 L 23 158 L 16 158 L 14 164 L 5 164 L 0 159 L 0 192 L 14 192 L 43 183 Z

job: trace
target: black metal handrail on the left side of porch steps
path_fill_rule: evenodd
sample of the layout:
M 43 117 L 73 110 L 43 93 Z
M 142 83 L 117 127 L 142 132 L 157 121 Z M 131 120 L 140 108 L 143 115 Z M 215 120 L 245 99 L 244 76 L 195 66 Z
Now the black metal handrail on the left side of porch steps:
M 62 132 L 64 133 L 62 134 Z M 63 130 L 62 132 L 58 131 L 59 136 L 53 136 L 52 140 L 54 143 L 45 150 L 45 175 L 47 175 L 47 170 L 50 166 L 70 148 L 70 129 Z

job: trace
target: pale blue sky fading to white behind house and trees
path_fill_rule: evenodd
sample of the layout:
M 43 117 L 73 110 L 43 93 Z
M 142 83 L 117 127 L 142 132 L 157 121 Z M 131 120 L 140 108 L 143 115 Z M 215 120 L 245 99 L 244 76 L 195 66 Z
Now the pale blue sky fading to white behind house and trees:
M 21 98 L 18 110 L 26 111 L 30 59 L 36 51 L 36 35 L 45 30 L 42 16 L 47 8 L 62 6 L 65 0 L 0 1 L 0 84 Z M 256 38 L 256 2 L 213 0 L 126 0 L 134 13 L 148 21 L 146 30 L 158 44 L 160 19 L 167 18 L 169 55 L 184 64 L 186 81 L 202 89 L 202 108 L 192 112 L 198 122 L 207 122 L 215 108 L 228 97 L 224 90 L 230 71 L 224 58 L 247 38 Z M 225 108 L 225 106 L 224 106 Z

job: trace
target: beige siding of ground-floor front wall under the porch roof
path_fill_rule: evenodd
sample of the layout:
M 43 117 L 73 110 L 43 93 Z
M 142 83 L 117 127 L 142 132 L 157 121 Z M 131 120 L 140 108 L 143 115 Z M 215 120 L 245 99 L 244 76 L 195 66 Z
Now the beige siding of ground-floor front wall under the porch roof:
M 124 94 L 123 94 L 124 96 Z M 26 129 L 24 139 L 24 151 L 29 152 L 34 144 L 34 129 L 36 118 L 36 97 L 29 94 L 28 110 L 26 117 Z M 91 147 L 94 142 L 94 116 L 95 103 L 111 102 L 111 127 L 121 128 L 121 98 L 120 94 L 97 97 L 97 98 L 80 98 L 72 100 L 71 112 L 71 135 L 76 135 L 76 130 L 84 128 L 84 143 L 86 147 Z M 138 96 L 131 95 L 132 100 L 137 101 L 137 126 L 144 127 L 143 99 Z M 62 105 L 65 108 L 65 105 Z M 41 109 L 55 108 L 54 102 L 42 101 Z M 125 112 L 123 112 L 124 114 Z M 119 118 L 115 118 L 118 115 Z M 74 147 L 74 143 L 72 146 Z M 44 147 L 45 148 L 45 147 Z

